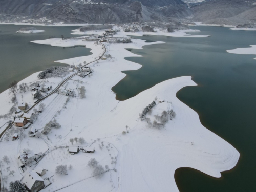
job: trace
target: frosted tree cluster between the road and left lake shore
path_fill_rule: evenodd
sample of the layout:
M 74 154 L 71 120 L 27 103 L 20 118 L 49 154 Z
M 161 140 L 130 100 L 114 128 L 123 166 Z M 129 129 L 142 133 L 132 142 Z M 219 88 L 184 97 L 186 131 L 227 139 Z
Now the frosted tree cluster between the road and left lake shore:
M 68 74 L 68 67 L 55 66 L 45 69 L 40 72 L 37 77 L 38 79 L 47 79 L 50 77 L 63 77 Z

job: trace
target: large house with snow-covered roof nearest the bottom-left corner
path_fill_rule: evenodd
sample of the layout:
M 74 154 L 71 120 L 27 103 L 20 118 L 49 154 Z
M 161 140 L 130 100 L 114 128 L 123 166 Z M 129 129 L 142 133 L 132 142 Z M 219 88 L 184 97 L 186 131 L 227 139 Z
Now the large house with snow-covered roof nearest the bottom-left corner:
M 42 179 L 37 173 L 32 170 L 22 179 L 25 187 L 29 192 L 38 192 L 45 187 L 44 179 Z

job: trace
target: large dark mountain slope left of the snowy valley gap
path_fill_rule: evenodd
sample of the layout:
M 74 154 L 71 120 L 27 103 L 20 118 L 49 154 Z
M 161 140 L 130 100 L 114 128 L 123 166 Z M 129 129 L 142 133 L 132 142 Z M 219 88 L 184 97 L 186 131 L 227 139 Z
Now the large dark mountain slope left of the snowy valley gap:
M 1 0 L 0 14 L 2 20 L 9 15 L 66 23 L 124 23 L 168 21 L 191 13 L 181 0 Z

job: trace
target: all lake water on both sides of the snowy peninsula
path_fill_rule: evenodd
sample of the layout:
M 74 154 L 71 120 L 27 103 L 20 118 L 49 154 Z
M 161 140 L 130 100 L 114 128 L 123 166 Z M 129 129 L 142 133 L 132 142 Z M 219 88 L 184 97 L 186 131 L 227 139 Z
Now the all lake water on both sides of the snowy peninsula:
M 30 41 L 49 36 L 70 35 L 77 27 L 41 27 L 37 34 L 17 34 L 23 26 L 0 25 L 0 92 L 13 80 L 56 65 L 56 60 L 91 54 L 82 47 L 59 48 L 32 44 Z M 166 44 L 133 49 L 143 57 L 127 60 L 142 64 L 136 71 L 125 71 L 113 91 L 117 99 L 129 99 L 164 80 L 190 75 L 197 87 L 186 87 L 177 97 L 194 109 L 207 129 L 221 136 L 240 152 L 238 165 L 223 172 L 221 179 L 209 177 L 197 170 L 180 168 L 175 179 L 181 192 L 190 191 L 256 191 L 256 60 L 255 55 L 227 53 L 228 49 L 256 44 L 256 32 L 232 31 L 224 27 L 191 27 L 211 35 L 206 38 L 144 36 L 148 41 Z

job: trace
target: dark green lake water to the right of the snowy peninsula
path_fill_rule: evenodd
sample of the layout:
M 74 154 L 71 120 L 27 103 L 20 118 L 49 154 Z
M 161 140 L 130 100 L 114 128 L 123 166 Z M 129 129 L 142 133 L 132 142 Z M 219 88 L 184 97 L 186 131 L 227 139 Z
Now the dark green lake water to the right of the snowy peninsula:
M 190 75 L 199 85 L 186 87 L 177 97 L 194 109 L 207 129 L 221 136 L 240 152 L 237 166 L 221 179 L 191 168 L 180 168 L 175 180 L 181 192 L 256 191 L 256 60 L 255 55 L 227 53 L 228 49 L 256 44 L 256 32 L 232 31 L 224 27 L 193 27 L 211 35 L 206 38 L 145 36 L 166 44 L 144 46 L 127 57 L 142 64 L 112 88 L 125 100 L 164 80 Z M 136 38 L 136 37 L 135 37 Z

